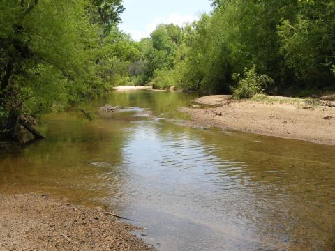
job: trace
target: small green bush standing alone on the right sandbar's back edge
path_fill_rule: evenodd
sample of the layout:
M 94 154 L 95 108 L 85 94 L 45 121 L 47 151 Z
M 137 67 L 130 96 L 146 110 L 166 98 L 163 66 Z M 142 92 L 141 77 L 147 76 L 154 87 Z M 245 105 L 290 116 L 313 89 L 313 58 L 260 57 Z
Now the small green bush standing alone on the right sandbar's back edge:
M 235 99 L 252 98 L 256 94 L 263 93 L 263 87 L 273 82 L 267 75 L 258 75 L 253 66 L 250 70 L 244 68 L 243 77 L 240 74 L 232 75 L 232 79 L 237 81 L 237 88 L 232 88 L 232 97 Z

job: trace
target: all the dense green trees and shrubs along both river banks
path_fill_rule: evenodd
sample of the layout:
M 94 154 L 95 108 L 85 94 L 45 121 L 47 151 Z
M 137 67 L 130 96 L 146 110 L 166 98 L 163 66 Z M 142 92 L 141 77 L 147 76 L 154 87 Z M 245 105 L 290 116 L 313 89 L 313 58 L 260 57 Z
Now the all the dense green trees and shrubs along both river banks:
M 118 84 L 208 93 L 335 89 L 333 0 L 212 0 L 183 27 L 161 24 L 139 43 L 119 31 L 121 0 L 0 0 L 0 138 L 52 109 Z M 38 135 L 37 135 L 38 136 Z

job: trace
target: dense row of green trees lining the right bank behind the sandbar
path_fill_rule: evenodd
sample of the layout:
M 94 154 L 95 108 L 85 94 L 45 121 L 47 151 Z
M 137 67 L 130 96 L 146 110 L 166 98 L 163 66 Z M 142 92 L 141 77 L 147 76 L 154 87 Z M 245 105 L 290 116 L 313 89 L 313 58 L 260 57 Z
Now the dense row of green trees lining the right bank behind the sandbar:
M 140 41 L 145 60 L 138 63 L 138 82 L 214 93 L 236 87 L 243 92 L 248 82 L 273 94 L 334 91 L 335 1 L 216 0 L 212 5 L 214 11 L 198 22 L 161 24 Z

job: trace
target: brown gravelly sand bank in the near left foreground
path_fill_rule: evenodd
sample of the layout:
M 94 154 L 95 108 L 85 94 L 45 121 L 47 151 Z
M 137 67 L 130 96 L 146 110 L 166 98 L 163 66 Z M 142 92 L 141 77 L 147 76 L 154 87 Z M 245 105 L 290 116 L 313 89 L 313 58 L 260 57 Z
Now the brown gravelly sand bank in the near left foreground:
M 152 250 L 99 209 L 48 195 L 0 194 L 0 250 Z

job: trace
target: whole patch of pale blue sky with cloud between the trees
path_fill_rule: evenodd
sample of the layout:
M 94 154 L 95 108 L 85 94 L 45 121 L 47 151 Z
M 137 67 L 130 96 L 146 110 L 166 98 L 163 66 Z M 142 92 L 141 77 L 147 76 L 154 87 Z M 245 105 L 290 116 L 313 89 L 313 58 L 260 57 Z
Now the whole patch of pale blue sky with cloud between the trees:
M 209 0 L 124 0 L 121 30 L 134 40 L 150 36 L 157 24 L 192 22 L 211 11 Z

